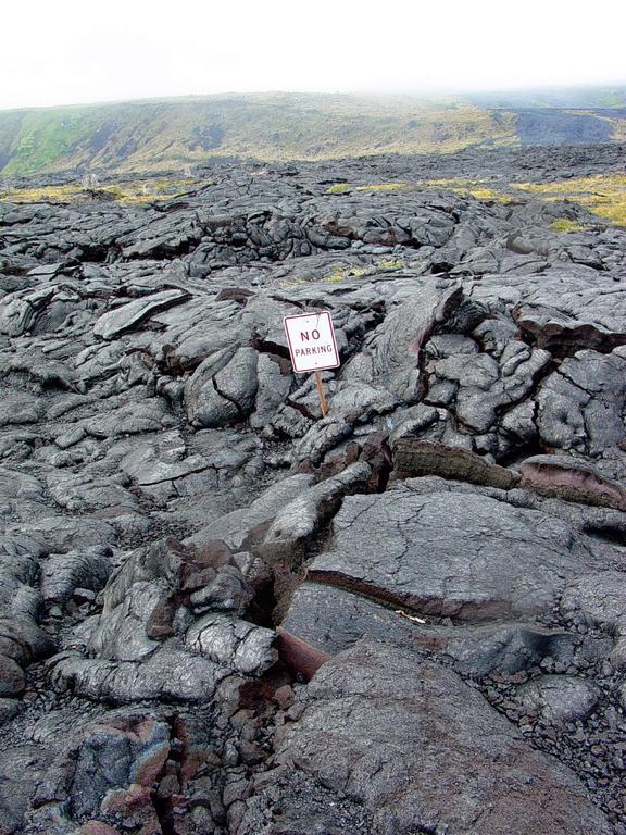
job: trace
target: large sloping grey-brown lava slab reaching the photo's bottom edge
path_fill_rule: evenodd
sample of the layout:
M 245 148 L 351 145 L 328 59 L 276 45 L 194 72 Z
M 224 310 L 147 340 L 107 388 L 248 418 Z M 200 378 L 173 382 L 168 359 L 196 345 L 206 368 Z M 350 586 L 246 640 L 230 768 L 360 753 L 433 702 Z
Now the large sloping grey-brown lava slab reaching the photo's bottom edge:
M 366 831 L 611 832 L 566 769 L 454 673 L 405 650 L 358 644 L 324 665 L 291 716 L 278 760 L 363 803 Z

